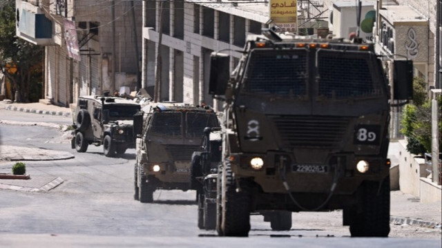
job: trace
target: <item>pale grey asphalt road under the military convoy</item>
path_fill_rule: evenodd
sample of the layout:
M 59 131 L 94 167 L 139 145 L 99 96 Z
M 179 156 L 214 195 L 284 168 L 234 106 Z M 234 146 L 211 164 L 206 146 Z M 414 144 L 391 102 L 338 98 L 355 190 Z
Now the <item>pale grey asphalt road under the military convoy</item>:
M 152 204 L 133 200 L 134 149 L 121 158 L 106 158 L 101 146 L 76 153 L 66 133 L 38 125 L 0 124 L 0 135 L 3 144 L 75 155 L 26 162 L 31 176 L 63 178 L 55 189 L 0 190 L 1 247 L 441 247 L 440 230 L 410 226 L 393 225 L 390 238 L 349 238 L 340 211 L 294 213 L 290 231 L 271 231 L 262 216 L 251 216 L 249 238 L 219 238 L 198 229 L 194 191 L 155 191 Z

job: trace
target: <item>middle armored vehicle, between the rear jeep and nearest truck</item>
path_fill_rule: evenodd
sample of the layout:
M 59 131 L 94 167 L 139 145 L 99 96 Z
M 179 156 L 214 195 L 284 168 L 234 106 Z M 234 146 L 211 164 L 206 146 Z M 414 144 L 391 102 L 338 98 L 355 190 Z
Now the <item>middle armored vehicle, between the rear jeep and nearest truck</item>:
M 151 102 L 135 115 L 135 200 L 153 202 L 156 189 L 190 189 L 193 151 L 204 128 L 220 126 L 209 106 Z

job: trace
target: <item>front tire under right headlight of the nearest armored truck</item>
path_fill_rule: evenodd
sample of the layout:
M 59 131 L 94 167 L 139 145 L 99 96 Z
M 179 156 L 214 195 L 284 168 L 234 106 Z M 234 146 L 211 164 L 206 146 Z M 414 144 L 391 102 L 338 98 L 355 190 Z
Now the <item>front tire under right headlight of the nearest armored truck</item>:
M 364 182 L 361 207 L 352 209 L 352 237 L 387 237 L 390 233 L 390 176 L 379 182 Z M 359 210 L 359 211 L 358 211 Z

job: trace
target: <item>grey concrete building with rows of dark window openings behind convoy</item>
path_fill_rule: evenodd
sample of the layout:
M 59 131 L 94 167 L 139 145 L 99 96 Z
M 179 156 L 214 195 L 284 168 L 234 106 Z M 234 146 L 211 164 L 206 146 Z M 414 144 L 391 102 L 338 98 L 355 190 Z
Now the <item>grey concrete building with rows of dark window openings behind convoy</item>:
M 298 6 L 298 22 L 313 28 L 308 26 L 314 24 L 309 19 L 321 15 L 318 6 L 322 1 L 298 2 L 303 6 Z M 143 87 L 153 97 L 158 80 L 160 101 L 204 102 L 219 109 L 219 104 L 208 95 L 210 54 L 229 54 L 232 70 L 247 35 L 259 35 L 269 21 L 269 8 L 269 1 L 144 1 Z

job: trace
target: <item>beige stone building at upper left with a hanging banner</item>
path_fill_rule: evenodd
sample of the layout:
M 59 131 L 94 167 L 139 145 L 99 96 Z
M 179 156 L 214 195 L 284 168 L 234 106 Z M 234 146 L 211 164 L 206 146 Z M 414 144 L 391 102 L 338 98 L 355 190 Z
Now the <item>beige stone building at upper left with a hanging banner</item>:
M 140 1 L 17 0 L 16 8 L 17 36 L 45 46 L 44 97 L 52 104 L 140 88 Z

